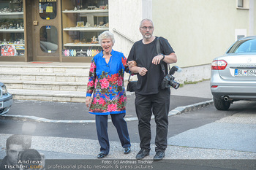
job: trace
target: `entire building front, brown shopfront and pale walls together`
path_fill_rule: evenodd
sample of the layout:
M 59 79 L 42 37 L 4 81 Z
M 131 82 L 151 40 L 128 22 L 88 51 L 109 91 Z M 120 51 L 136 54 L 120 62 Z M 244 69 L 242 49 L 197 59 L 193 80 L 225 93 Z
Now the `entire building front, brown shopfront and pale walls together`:
M 181 81 L 208 79 L 215 57 L 256 34 L 256 0 L 1 0 L 0 10 L 0 61 L 89 63 L 105 30 L 127 56 L 149 18 L 176 51 Z

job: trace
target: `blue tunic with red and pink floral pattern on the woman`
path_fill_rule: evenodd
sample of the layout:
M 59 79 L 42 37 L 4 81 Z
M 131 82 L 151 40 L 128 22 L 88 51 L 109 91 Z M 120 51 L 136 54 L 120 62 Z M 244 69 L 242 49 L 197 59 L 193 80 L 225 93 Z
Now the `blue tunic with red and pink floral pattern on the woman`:
M 102 52 L 91 60 L 86 96 L 94 94 L 89 113 L 94 115 L 125 113 L 127 96 L 124 88 L 124 72 L 129 72 L 127 58 L 123 53 L 112 50 L 112 56 L 106 63 Z

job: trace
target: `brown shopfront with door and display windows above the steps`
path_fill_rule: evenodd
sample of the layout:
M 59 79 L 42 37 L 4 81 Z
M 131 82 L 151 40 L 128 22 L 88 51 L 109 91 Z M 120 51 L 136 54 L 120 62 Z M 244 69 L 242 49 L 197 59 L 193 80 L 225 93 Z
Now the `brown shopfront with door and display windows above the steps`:
M 90 62 L 108 0 L 1 0 L 0 61 Z

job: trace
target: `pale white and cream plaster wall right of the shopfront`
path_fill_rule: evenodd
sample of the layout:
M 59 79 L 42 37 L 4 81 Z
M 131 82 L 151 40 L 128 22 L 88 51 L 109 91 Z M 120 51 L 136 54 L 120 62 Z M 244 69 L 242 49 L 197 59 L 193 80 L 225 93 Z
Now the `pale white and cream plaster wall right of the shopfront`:
M 116 38 L 113 49 L 128 56 L 133 45 L 113 29 L 136 42 L 142 39 L 140 20 L 149 18 L 154 21 L 154 35 L 168 39 L 176 51 L 175 65 L 184 69 L 177 80 L 209 79 L 211 61 L 235 42 L 238 31 L 256 33 L 252 19 L 256 0 L 249 1 L 254 4 L 251 10 L 238 9 L 237 0 L 109 0 L 110 31 Z

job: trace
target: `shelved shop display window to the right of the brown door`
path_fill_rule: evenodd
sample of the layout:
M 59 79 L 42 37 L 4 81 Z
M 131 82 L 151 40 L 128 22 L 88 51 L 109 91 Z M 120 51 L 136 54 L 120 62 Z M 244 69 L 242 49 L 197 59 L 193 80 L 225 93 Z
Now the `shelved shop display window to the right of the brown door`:
M 93 57 L 102 50 L 98 36 L 109 30 L 108 0 L 63 0 L 65 57 Z

